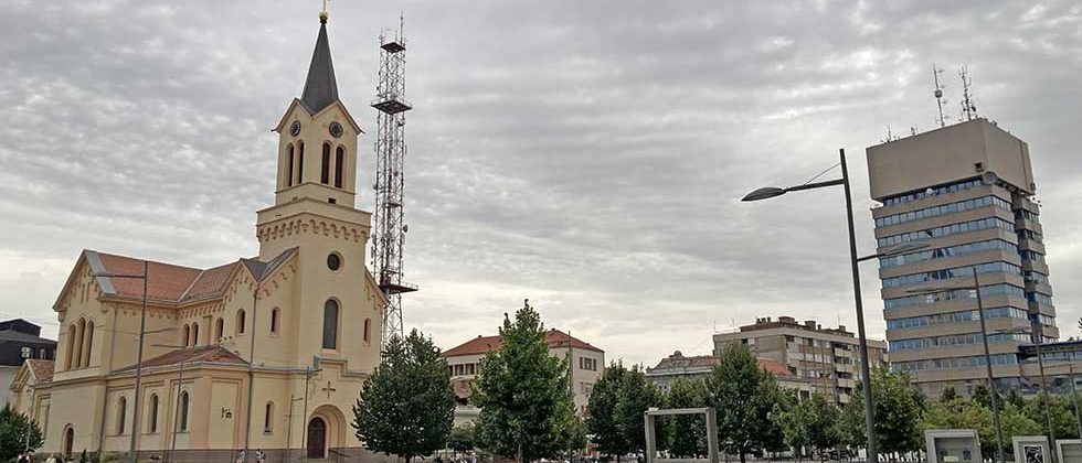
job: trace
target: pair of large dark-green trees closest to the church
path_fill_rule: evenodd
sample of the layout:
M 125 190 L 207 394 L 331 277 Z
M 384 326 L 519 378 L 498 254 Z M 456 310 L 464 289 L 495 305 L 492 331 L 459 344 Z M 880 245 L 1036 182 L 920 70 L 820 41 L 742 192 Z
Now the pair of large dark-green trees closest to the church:
M 520 462 L 570 455 L 586 448 L 575 414 L 567 360 L 549 355 L 541 316 L 529 301 L 512 321 L 505 314 L 501 345 L 485 355 L 469 400 L 476 427 L 453 428 L 456 398 L 447 362 L 431 338 L 413 331 L 393 338 L 353 407 L 358 439 L 406 462 L 453 448 L 474 448 Z

